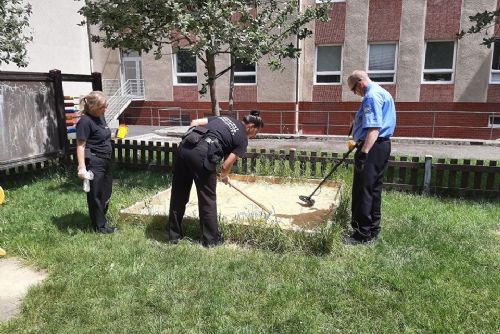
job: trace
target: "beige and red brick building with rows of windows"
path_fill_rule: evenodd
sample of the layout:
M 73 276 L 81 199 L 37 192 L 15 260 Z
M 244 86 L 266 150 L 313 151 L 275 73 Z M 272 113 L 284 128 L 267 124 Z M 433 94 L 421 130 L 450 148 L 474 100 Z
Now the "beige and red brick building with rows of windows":
M 498 1 L 334 0 L 331 20 L 310 25 L 313 37 L 300 42 L 300 59 L 288 60 L 285 71 L 272 72 L 265 59 L 239 64 L 234 109 L 237 116 L 262 110 L 266 132 L 345 135 L 360 99 L 344 83 L 363 69 L 395 98 L 396 136 L 500 138 L 500 43 L 488 49 L 480 34 L 456 37 L 470 15 Z M 121 116 L 128 124 L 175 125 L 210 114 L 209 95 L 198 93 L 204 67 L 188 53 L 155 60 L 94 45 L 92 58 L 105 84 L 143 85 Z M 217 81 L 223 109 L 228 85 L 228 75 Z

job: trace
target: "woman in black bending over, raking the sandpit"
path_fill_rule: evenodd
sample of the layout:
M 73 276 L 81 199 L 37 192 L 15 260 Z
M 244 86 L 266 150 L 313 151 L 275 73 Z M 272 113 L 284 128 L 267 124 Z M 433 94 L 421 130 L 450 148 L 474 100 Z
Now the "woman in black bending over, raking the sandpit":
M 224 160 L 220 180 L 227 184 L 231 167 L 247 150 L 248 138 L 255 137 L 263 127 L 257 110 L 245 116 L 243 121 L 214 116 L 191 122 L 174 166 L 169 210 L 171 243 L 178 243 L 183 237 L 182 218 L 193 181 L 198 194 L 202 244 L 209 247 L 223 242 L 217 223 L 217 164 Z

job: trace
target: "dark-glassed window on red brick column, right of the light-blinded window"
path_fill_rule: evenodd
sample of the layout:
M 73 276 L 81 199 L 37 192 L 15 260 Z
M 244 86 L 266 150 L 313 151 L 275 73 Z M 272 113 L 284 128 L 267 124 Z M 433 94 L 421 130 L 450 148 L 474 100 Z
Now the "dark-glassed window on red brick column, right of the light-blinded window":
M 424 82 L 452 82 L 455 42 L 427 42 L 425 46 Z

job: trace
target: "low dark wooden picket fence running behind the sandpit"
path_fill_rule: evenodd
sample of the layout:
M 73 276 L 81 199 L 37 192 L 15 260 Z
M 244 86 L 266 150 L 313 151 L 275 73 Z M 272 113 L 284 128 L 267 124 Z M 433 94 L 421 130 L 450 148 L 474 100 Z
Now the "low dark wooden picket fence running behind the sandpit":
M 76 140 L 71 140 L 69 161 L 76 166 L 75 147 Z M 116 140 L 113 147 L 112 160 L 116 166 L 171 172 L 178 145 Z M 233 172 L 322 178 L 342 156 L 333 152 L 295 149 L 251 149 L 245 157 L 238 160 Z M 345 167 L 352 164 L 352 157 L 345 160 Z M 0 179 L 54 165 L 54 162 L 48 162 L 13 168 L 2 171 Z M 391 156 L 384 176 L 384 188 L 415 193 L 500 198 L 500 166 L 497 161 Z

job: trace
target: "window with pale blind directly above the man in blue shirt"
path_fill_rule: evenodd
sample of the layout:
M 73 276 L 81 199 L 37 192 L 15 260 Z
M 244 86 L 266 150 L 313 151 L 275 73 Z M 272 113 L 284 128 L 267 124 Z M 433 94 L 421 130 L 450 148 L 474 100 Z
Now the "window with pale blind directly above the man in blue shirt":
M 367 72 L 375 82 L 394 83 L 396 44 L 370 44 Z

